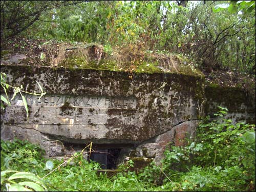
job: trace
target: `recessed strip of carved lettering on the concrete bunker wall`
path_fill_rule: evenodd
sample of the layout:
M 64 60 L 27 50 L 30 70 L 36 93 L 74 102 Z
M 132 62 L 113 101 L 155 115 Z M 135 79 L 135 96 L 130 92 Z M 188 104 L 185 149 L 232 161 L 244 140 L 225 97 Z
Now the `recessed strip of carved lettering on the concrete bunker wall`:
M 89 95 L 45 95 L 39 96 L 24 94 L 28 105 L 61 106 L 69 103 L 84 108 L 120 108 L 135 109 L 135 97 L 89 96 Z M 22 97 L 17 95 L 12 104 L 22 104 Z

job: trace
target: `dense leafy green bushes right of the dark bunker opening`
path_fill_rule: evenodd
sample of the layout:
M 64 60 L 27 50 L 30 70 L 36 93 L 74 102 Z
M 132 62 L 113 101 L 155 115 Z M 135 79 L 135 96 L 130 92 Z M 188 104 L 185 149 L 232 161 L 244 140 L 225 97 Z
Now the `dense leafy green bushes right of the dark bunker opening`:
M 233 124 L 219 106 L 207 117 L 187 146 L 170 146 L 161 165 L 152 163 L 139 177 L 166 190 L 230 191 L 255 189 L 255 125 Z M 155 182 L 156 183 L 156 182 Z M 157 184 L 157 183 L 156 183 Z

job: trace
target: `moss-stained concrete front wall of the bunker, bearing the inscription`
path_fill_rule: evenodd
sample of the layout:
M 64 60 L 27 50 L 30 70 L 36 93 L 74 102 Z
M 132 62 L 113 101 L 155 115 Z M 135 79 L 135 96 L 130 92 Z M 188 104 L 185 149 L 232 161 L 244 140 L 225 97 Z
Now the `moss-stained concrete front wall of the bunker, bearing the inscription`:
M 39 92 L 37 80 L 47 92 L 40 100 L 25 94 L 28 121 L 22 98 L 16 96 L 1 114 L 1 138 L 40 143 L 50 156 L 65 151 L 60 144 L 52 147 L 51 140 L 137 146 L 159 136 L 163 138 L 158 147 L 164 140 L 180 144 L 183 133 L 177 138 L 162 134 L 203 115 L 201 76 L 24 66 L 1 66 L 1 71 L 13 86 L 23 84 L 25 91 Z M 192 123 L 183 131 L 190 133 L 195 127 Z

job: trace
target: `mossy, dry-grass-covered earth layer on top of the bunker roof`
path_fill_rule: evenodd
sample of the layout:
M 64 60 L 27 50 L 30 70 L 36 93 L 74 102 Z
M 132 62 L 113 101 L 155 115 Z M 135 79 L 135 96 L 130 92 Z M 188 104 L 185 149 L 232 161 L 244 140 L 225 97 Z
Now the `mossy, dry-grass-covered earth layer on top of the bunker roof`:
M 10 41 L 12 42 L 12 41 Z M 7 45 L 10 42 L 6 42 Z M 28 40 L 28 42 L 30 42 Z M 33 41 L 32 41 L 33 42 Z M 184 73 L 203 75 L 191 59 L 182 54 L 151 51 L 145 42 L 136 41 L 122 46 L 97 43 L 72 44 L 71 42 L 30 42 L 26 47 L 24 65 L 63 67 L 69 69 L 97 69 L 129 73 Z M 12 42 L 22 46 L 22 42 Z M 11 46 L 11 45 L 9 45 Z M 7 46 L 8 47 L 8 46 Z M 25 51 L 23 50 L 23 51 Z M 8 63 L 12 51 L 1 51 L 1 58 Z

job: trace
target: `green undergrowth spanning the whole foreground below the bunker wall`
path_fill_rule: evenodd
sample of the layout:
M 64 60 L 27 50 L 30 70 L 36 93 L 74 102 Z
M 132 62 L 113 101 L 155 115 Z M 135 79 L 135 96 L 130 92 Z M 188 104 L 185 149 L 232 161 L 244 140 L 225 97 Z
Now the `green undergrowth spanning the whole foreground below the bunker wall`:
M 49 162 L 28 141 L 1 140 L 1 191 L 16 184 L 11 182 L 10 169 L 44 178 L 39 183 L 35 176 L 24 175 L 18 182 L 27 189 L 35 188 L 23 183 L 24 179 L 33 178 L 49 191 L 254 191 L 255 125 L 233 124 L 224 118 L 226 113 L 227 109 L 220 108 L 217 119 L 202 121 L 196 138 L 186 146 L 170 144 L 161 164 L 152 163 L 136 174 L 129 171 L 130 161 L 119 166 L 120 172 L 111 178 L 97 174 L 99 164 L 83 158 L 74 158 L 73 163 L 48 175 L 63 160 Z

